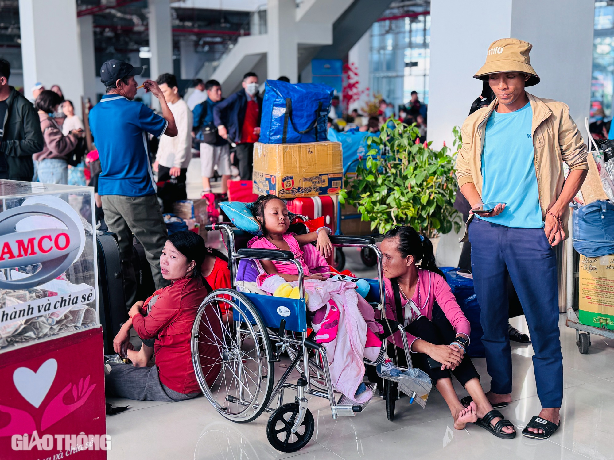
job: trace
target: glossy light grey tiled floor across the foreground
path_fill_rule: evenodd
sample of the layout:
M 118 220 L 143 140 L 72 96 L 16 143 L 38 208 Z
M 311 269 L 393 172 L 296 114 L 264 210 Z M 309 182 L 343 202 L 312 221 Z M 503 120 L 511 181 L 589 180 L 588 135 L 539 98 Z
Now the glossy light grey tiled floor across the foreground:
M 358 253 L 349 251 L 348 265 L 362 269 Z M 358 271 L 358 270 L 357 270 Z M 526 331 L 524 318 L 513 324 Z M 456 431 L 443 398 L 437 391 L 429 397 L 426 409 L 397 401 L 394 422 L 386 418 L 385 402 L 375 397 L 365 412 L 356 417 L 333 420 L 328 402 L 311 397 L 309 409 L 316 431 L 303 450 L 282 454 L 266 439 L 266 414 L 247 424 L 225 420 L 204 397 L 185 402 L 138 402 L 109 399 L 114 405 L 130 404 L 126 412 L 107 417 L 107 433 L 112 436 L 110 460 L 309 460 L 339 459 L 519 459 L 579 460 L 614 458 L 614 340 L 591 336 L 589 355 L 580 355 L 575 331 L 566 328 L 561 316 L 565 390 L 561 429 L 550 439 L 530 440 L 518 435 L 501 440 L 484 429 L 469 425 Z M 537 415 L 540 404 L 535 391 L 530 345 L 514 344 L 513 402 L 502 412 L 518 431 Z M 488 390 L 489 377 L 484 359 L 475 359 Z M 281 375 L 281 369 L 276 369 Z M 458 386 L 459 394 L 464 396 Z M 293 395 L 286 392 L 289 402 Z

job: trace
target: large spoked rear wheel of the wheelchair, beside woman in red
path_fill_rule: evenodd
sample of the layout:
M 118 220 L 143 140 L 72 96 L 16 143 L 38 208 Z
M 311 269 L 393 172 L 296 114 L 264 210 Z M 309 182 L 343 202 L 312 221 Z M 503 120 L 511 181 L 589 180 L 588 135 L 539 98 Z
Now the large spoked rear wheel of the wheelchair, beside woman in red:
M 192 328 L 192 364 L 217 412 L 237 423 L 257 418 L 273 391 L 272 360 L 265 324 L 247 297 L 231 289 L 205 297 Z

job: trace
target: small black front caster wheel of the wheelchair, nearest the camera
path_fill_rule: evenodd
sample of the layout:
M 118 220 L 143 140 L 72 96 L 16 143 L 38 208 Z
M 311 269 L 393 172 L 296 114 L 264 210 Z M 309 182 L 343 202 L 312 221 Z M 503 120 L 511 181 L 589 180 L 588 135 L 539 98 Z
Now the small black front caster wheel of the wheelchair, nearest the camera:
M 309 409 L 305 413 L 305 420 L 298 427 L 297 432 L 291 433 L 290 429 L 298 416 L 298 403 L 284 404 L 273 412 L 266 424 L 266 437 L 270 444 L 282 452 L 296 452 L 307 445 L 315 423 Z

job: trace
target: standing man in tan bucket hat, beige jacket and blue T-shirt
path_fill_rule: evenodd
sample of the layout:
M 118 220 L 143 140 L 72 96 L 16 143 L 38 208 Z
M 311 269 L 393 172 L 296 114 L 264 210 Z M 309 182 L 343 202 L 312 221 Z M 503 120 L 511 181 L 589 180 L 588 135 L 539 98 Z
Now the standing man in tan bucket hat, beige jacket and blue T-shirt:
M 510 275 L 533 342 L 542 411 L 523 435 L 545 439 L 561 425 L 563 366 L 559 294 L 553 246 L 567 237 L 569 203 L 588 171 L 586 145 L 566 104 L 540 99 L 526 86 L 540 78 L 530 65 L 530 43 L 501 39 L 473 75 L 488 81 L 495 99 L 462 126 L 456 162 L 461 193 L 472 206 L 464 240 L 471 242 L 475 292 L 494 407 L 511 402 L 508 337 Z M 563 163 L 569 166 L 565 179 Z M 479 416 L 479 415 L 478 415 Z

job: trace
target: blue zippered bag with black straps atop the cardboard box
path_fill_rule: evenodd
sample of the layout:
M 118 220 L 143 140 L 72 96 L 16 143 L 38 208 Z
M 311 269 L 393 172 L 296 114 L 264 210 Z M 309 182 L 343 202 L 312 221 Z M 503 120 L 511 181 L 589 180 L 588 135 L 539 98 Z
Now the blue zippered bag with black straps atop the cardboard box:
M 333 88 L 317 83 L 266 80 L 260 139 L 263 144 L 299 144 L 327 140 Z

